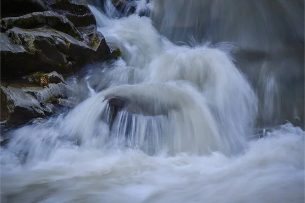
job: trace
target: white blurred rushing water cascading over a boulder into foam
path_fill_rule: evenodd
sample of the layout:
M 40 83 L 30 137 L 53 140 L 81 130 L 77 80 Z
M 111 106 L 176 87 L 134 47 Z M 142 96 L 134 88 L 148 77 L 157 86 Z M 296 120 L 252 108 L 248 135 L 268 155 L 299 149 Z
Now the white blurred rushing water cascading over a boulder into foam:
M 145 3 L 136 13 L 161 4 Z M 83 100 L 73 110 L 11 132 L 1 148 L 3 202 L 303 202 L 304 131 L 256 125 L 260 95 L 232 44 L 177 45 L 110 1 L 90 9 L 122 55 L 68 82 Z

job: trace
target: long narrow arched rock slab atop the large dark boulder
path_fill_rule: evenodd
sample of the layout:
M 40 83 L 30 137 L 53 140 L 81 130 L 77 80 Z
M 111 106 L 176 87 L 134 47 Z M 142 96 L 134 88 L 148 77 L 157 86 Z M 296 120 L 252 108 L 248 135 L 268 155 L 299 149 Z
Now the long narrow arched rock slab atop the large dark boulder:
M 11 17 L 1 19 L 1 31 L 5 32 L 13 27 L 36 28 L 38 26 L 48 25 L 58 31 L 81 39 L 80 33 L 76 27 L 65 16 L 59 15 L 52 11 L 35 12 L 20 17 Z

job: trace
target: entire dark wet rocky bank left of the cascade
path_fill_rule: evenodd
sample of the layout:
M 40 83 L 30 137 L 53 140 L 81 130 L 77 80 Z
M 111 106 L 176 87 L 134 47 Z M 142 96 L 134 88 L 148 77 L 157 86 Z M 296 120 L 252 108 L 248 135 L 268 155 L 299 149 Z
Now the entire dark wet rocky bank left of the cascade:
M 113 56 L 81 0 L 4 0 L 0 36 L 1 121 L 13 127 L 73 107 L 63 75 Z

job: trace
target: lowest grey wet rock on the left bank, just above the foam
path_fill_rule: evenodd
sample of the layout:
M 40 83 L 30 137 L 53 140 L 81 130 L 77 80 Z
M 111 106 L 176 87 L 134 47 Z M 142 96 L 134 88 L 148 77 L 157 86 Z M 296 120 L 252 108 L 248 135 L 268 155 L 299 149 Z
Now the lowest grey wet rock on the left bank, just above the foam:
M 28 121 L 54 113 L 57 99 L 66 96 L 66 85 L 49 84 L 43 88 L 33 84 L 1 85 L 1 121 L 17 127 Z

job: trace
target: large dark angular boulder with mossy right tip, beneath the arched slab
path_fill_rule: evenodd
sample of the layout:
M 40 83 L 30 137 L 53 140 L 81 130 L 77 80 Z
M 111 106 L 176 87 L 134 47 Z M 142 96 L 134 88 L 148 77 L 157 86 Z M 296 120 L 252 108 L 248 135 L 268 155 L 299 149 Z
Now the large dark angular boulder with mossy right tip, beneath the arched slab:
M 92 47 L 67 33 L 47 27 L 8 29 L 1 33 L 2 78 L 21 77 L 37 71 L 67 74 L 76 67 L 75 63 L 81 65 L 109 56 L 109 47 L 100 32 L 90 45 Z

